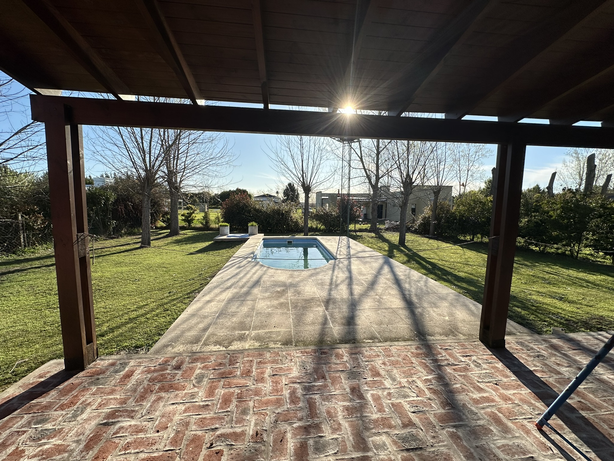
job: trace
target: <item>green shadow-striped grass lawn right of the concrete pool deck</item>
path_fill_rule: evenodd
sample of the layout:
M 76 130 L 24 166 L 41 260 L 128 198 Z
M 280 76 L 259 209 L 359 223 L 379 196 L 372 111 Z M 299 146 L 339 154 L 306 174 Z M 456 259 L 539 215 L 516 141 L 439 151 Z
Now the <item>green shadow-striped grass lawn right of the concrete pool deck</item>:
M 407 234 L 406 246 L 401 247 L 398 234 L 392 232 L 378 237 L 365 232 L 354 238 L 389 256 L 450 245 Z M 392 258 L 481 303 L 487 250 L 487 243 L 475 242 Z M 612 265 L 518 248 L 509 317 L 537 333 L 550 333 L 553 326 L 568 333 L 614 329 L 613 282 Z

